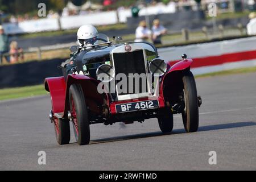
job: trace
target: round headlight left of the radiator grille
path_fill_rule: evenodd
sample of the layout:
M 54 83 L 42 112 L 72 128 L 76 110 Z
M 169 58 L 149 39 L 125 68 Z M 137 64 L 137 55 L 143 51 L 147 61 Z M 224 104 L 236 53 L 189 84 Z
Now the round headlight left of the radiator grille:
M 102 64 L 96 71 L 97 79 L 102 82 L 110 82 L 115 77 L 115 70 L 109 64 Z

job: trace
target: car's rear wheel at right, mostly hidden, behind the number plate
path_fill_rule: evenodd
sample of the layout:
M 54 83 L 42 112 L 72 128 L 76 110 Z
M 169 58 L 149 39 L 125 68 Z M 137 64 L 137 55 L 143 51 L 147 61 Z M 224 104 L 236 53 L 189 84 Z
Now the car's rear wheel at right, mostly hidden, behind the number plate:
M 158 118 L 160 130 L 163 133 L 170 133 L 174 127 L 174 117 L 171 111 L 167 110 L 166 114 Z

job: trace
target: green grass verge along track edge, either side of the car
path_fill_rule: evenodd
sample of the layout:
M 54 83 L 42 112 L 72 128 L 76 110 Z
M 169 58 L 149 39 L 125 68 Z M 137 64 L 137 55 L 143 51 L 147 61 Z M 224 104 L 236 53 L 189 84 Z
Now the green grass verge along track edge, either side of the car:
M 196 78 L 211 77 L 211 76 L 232 75 L 232 74 L 238 74 L 238 73 L 251 73 L 251 72 L 256 72 L 256 67 L 239 68 L 239 69 L 232 69 L 232 70 L 228 70 L 228 71 L 213 72 L 213 73 L 207 73 L 207 74 L 203 74 L 203 75 L 197 75 L 195 77 Z M 41 96 L 41 95 L 44 95 L 47 93 L 48 92 L 46 92 L 46 90 L 44 90 L 44 85 L 0 89 L 0 101 L 11 100 L 11 99 L 15 99 L 15 98 Z

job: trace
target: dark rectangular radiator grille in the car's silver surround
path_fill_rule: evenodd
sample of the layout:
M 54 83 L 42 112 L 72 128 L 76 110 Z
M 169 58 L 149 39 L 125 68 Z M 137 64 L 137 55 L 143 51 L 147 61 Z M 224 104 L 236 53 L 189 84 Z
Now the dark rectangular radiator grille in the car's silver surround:
M 119 90 L 117 90 L 118 94 L 125 95 L 125 94 L 142 93 L 143 91 L 145 91 L 145 89 L 147 92 L 147 86 L 146 88 L 142 89 L 142 86 L 146 84 L 145 82 L 142 84 L 142 79 L 139 79 L 139 92 L 136 92 L 135 79 L 133 79 L 133 92 L 129 93 L 129 77 L 128 77 L 129 73 L 132 73 L 132 74 L 138 73 L 138 75 L 141 75 L 141 73 L 146 74 L 143 50 L 138 50 L 133 52 L 113 53 L 113 58 L 114 58 L 115 74 L 117 75 L 118 73 L 124 73 L 127 78 L 126 93 L 121 93 Z M 118 82 L 119 81 L 116 81 L 115 84 L 117 84 Z M 123 88 L 121 87 L 121 89 Z

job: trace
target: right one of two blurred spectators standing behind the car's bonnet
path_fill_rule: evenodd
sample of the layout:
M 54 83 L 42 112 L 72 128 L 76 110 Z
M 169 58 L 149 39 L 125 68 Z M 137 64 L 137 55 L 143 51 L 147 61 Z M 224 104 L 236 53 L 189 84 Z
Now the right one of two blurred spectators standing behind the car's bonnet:
M 161 37 L 167 33 L 166 28 L 160 25 L 159 19 L 153 21 L 152 40 L 154 44 L 162 44 Z

